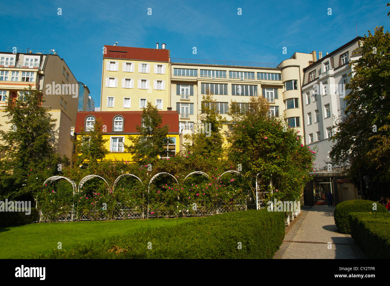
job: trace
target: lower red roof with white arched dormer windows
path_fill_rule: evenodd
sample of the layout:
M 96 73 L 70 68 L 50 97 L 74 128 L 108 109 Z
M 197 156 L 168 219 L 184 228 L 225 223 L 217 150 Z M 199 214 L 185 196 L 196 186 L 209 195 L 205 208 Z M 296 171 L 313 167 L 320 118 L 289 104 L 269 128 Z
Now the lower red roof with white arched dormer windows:
M 179 134 L 179 113 L 177 111 L 159 111 L 163 115 L 163 122 L 160 126 L 169 125 L 170 134 Z M 138 133 L 135 127 L 136 124 L 141 125 L 142 111 L 80 111 L 76 115 L 75 132 L 80 133 L 80 127 L 85 130 L 85 121 L 87 117 L 93 116 L 101 118 L 103 125 L 107 126 L 107 133 L 113 132 L 113 120 L 115 117 L 121 115 L 124 119 L 123 131 L 119 133 Z M 115 131 L 118 133 L 118 131 Z

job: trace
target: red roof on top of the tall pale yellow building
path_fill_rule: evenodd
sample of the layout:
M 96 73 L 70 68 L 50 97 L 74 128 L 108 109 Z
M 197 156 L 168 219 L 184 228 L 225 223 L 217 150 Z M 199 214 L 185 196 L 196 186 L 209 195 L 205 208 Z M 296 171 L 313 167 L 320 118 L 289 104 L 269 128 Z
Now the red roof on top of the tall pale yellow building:
M 103 54 L 104 58 L 126 59 L 126 60 L 149 60 L 154 62 L 169 62 L 169 50 L 133 48 L 120 46 L 107 46 L 107 53 Z

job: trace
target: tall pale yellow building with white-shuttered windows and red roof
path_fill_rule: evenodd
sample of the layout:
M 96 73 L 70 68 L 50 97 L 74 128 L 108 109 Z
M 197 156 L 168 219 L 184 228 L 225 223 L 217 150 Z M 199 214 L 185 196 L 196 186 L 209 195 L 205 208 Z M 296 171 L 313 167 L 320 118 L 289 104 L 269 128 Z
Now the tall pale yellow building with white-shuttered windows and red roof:
M 170 103 L 169 50 L 104 46 L 100 111 L 139 111 Z

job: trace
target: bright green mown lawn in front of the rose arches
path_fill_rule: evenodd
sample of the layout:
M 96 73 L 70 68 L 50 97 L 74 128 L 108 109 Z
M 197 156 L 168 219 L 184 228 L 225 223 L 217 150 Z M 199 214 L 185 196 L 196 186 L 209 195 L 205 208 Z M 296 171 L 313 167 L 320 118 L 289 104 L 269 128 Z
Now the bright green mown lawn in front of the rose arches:
M 69 249 L 91 240 L 101 241 L 118 234 L 140 229 L 176 226 L 188 218 L 129 219 L 113 221 L 52 222 L 24 226 L 0 227 L 0 258 L 28 258 L 32 252 L 50 253 Z

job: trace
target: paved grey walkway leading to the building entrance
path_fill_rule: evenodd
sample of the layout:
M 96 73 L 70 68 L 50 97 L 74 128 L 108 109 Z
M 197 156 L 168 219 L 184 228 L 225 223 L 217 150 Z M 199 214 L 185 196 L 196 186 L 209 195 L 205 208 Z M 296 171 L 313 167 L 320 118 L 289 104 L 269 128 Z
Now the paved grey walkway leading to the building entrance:
M 300 216 L 292 221 L 294 225 L 285 235 L 274 259 L 366 258 L 351 235 L 338 232 L 334 211 L 334 206 L 302 208 Z

